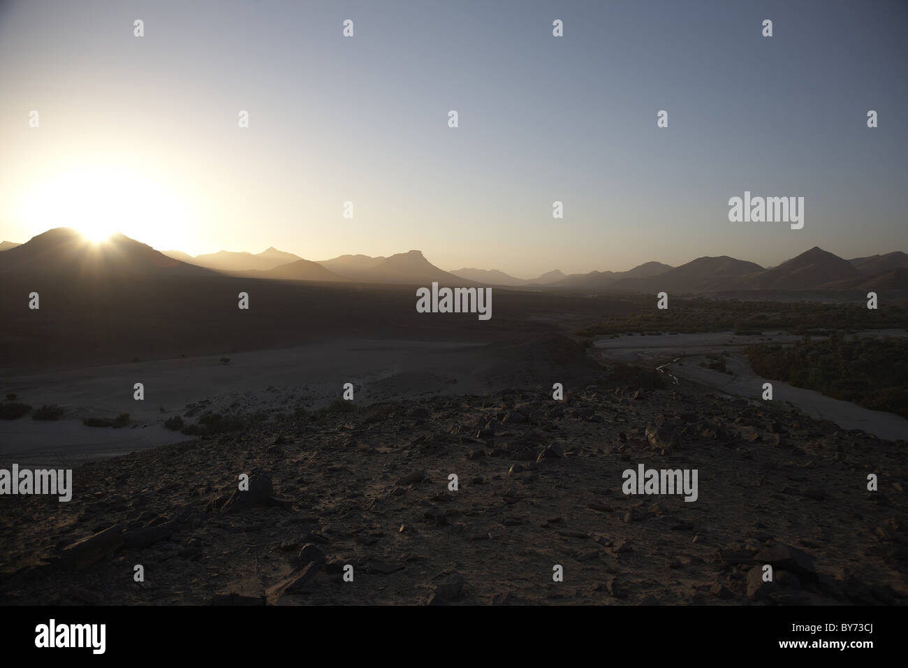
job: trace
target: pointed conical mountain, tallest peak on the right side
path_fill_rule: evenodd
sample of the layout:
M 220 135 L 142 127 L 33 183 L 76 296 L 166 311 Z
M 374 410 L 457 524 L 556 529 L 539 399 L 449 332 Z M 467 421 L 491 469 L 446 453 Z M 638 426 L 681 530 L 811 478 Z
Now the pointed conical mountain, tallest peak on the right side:
M 808 290 L 858 274 L 854 264 L 814 246 L 772 269 L 740 277 L 730 287 L 739 290 Z

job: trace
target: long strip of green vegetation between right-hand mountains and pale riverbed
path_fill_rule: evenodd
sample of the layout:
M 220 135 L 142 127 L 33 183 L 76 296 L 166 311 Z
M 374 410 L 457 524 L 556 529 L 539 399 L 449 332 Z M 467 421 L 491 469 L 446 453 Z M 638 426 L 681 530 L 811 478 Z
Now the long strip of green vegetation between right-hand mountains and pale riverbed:
M 767 331 L 820 334 L 831 330 L 850 333 L 871 329 L 908 329 L 908 304 L 904 302 L 872 311 L 864 302 L 820 304 L 676 297 L 669 308 L 659 310 L 655 295 L 641 295 L 627 298 L 625 304 L 626 313 L 609 314 L 601 322 L 575 334 L 734 332 L 759 335 Z

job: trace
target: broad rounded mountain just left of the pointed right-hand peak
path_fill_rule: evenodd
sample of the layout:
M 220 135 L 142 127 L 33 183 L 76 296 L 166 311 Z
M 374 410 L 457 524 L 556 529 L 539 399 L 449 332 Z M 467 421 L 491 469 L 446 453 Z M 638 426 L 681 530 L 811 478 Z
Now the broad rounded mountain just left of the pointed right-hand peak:
M 761 271 L 763 267 L 759 264 L 737 260 L 727 255 L 698 257 L 660 274 L 620 278 L 611 284 L 609 289 L 631 292 L 708 293 L 725 289 L 725 285 L 740 276 Z

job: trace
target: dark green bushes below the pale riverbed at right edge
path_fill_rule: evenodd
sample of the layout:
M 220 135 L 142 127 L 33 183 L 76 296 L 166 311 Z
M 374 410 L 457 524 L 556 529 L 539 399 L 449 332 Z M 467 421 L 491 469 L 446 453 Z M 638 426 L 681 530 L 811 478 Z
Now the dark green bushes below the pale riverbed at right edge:
M 908 417 L 908 339 L 847 339 L 833 333 L 826 340 L 809 335 L 793 346 L 755 344 L 747 358 L 757 374 L 816 390 L 873 411 Z

